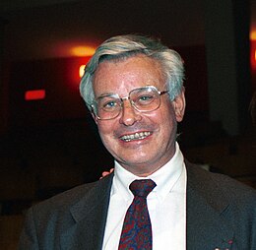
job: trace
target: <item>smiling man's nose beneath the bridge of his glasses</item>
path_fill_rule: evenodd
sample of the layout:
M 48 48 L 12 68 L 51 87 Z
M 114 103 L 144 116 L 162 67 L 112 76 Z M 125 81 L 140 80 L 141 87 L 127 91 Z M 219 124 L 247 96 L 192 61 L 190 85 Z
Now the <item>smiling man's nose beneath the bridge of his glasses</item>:
M 124 99 L 122 104 L 120 123 L 125 126 L 132 126 L 134 123 L 141 120 L 141 114 L 133 107 L 129 99 Z

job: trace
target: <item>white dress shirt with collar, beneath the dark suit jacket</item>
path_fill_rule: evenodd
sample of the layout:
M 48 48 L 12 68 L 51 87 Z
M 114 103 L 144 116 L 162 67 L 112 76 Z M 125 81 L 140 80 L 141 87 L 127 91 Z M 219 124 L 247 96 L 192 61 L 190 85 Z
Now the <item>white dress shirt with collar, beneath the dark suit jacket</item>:
M 153 250 L 186 249 L 186 169 L 177 143 L 175 147 L 175 155 L 147 177 L 157 184 L 147 197 Z M 135 179 L 145 178 L 132 174 L 115 162 L 103 250 L 118 249 L 125 214 L 134 197 L 129 185 Z

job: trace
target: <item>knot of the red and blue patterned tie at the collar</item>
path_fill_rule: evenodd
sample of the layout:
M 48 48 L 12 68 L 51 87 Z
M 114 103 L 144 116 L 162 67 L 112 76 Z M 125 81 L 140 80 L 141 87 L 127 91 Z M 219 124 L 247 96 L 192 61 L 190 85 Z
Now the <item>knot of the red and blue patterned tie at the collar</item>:
M 157 186 L 157 184 L 150 179 L 134 180 L 129 188 L 134 196 L 140 196 L 146 198 L 149 193 Z

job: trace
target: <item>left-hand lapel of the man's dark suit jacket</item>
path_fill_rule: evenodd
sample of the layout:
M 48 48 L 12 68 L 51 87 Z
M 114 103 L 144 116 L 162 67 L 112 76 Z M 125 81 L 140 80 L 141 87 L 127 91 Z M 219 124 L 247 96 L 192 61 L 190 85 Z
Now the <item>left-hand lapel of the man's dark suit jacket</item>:
M 101 249 L 113 174 L 96 182 L 70 213 L 75 223 L 61 235 L 61 249 Z

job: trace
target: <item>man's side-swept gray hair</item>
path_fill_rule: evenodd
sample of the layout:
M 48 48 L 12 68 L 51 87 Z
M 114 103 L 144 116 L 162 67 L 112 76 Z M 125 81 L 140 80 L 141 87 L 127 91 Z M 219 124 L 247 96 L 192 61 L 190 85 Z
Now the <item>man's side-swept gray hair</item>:
M 170 100 L 180 94 L 184 67 L 183 60 L 176 51 L 152 37 L 137 34 L 117 35 L 105 40 L 97 47 L 96 53 L 85 68 L 85 74 L 80 83 L 80 93 L 89 109 L 95 100 L 93 78 L 98 64 L 104 60 L 124 60 L 137 54 L 146 55 L 160 62 Z

